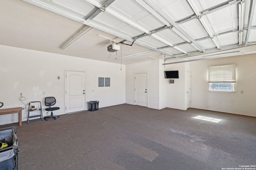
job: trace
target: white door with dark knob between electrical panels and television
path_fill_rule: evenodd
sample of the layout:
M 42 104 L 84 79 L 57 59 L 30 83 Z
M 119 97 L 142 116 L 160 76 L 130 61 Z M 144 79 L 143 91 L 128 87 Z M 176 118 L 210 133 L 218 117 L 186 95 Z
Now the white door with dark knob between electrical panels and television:
M 148 74 L 135 74 L 135 105 L 148 106 Z

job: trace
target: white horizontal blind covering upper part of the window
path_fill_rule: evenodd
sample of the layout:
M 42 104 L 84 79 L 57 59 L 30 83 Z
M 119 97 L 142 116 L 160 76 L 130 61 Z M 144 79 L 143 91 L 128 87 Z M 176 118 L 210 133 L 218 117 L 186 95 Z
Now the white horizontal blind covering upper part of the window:
M 208 66 L 208 82 L 236 82 L 236 64 Z

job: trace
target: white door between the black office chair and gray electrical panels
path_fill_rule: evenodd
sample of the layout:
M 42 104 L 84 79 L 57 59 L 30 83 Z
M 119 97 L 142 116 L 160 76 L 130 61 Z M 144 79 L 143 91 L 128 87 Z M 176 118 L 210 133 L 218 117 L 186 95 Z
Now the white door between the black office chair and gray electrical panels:
M 66 71 L 66 113 L 85 110 L 85 72 Z

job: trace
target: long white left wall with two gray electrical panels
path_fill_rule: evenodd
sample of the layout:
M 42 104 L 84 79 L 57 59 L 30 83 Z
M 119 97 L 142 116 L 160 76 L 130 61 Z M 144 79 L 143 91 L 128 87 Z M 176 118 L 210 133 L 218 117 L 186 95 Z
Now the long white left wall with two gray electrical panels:
M 3 45 L 0 51 L 0 102 L 4 103 L 1 109 L 23 105 L 18 100 L 22 92 L 25 104 L 41 101 L 43 110 L 44 98 L 54 96 L 60 107 L 54 113 L 64 114 L 65 69 L 86 71 L 86 102 L 98 100 L 99 107 L 125 103 L 125 65 L 120 70 L 120 64 Z M 98 77 L 110 77 L 110 87 L 98 87 Z M 22 121 L 27 120 L 27 115 L 28 110 L 22 110 Z M 43 115 L 46 116 L 45 110 Z M 18 113 L 0 115 L 0 125 L 14 122 L 18 122 Z

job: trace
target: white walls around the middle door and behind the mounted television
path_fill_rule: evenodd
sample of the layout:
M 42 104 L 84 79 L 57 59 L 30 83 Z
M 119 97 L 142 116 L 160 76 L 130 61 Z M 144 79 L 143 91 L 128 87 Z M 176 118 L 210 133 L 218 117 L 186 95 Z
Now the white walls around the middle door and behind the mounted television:
M 148 107 L 162 109 L 171 107 L 186 110 L 186 69 L 190 64 L 162 65 L 163 60 L 126 65 L 126 103 L 134 104 L 134 73 L 148 72 Z M 179 70 L 179 78 L 174 84 L 164 78 L 165 70 Z

